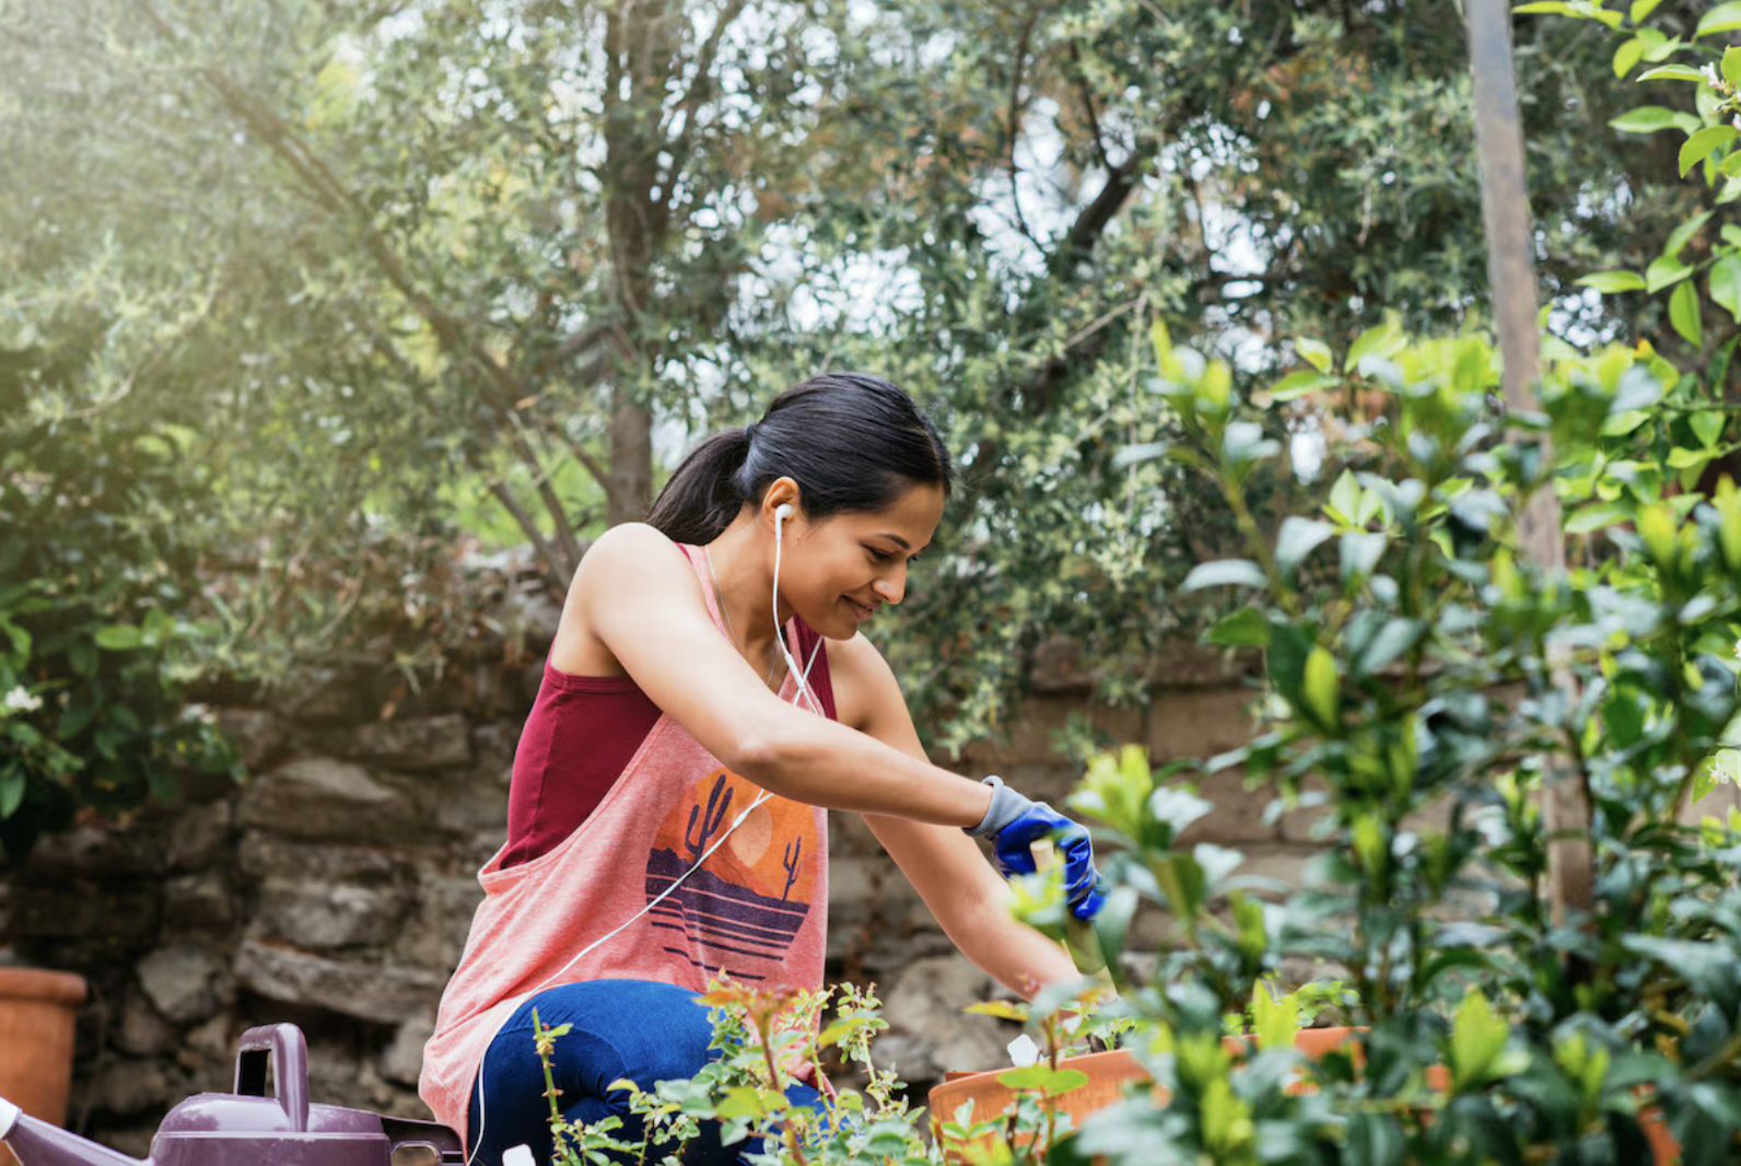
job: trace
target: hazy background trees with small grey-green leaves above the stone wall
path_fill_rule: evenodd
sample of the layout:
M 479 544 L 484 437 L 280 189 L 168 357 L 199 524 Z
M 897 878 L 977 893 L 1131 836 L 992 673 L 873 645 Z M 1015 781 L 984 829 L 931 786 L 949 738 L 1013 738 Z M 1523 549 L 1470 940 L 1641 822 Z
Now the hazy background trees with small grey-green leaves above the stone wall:
M 35 0 L 16 23 L 0 315 L 77 318 L 99 353 L 21 404 L 186 428 L 249 667 L 367 642 L 352 559 L 427 578 L 430 541 L 529 539 L 561 590 L 639 513 L 655 432 L 663 458 L 851 364 L 926 397 L 966 468 L 886 644 L 935 741 L 994 727 L 1053 637 L 1140 700 L 1205 618 L 1180 581 L 1236 538 L 1177 466 L 1119 459 L 1154 423 L 1151 324 L 1238 352 L 1248 395 L 1287 334 L 1449 327 L 1485 280 L 1461 21 L 1424 0 Z M 1525 132 L 1556 312 L 1602 332 L 1624 305 L 1574 275 L 1642 270 L 1687 191 L 1603 129 L 1624 110 L 1579 31 L 1520 28 Z M 1254 472 L 1264 520 L 1304 503 Z

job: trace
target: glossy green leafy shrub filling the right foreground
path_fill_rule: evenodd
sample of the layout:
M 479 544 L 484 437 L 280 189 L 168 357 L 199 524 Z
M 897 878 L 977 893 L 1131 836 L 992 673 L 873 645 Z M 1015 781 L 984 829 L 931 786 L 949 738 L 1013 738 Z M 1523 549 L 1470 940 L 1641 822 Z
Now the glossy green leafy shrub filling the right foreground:
M 1240 432 L 1260 418 L 1229 407 L 1213 362 L 1158 357 L 1184 433 L 1149 456 L 1203 473 L 1250 534 L 1236 569 L 1207 574 L 1245 604 L 1212 635 L 1267 660 L 1267 724 L 1210 767 L 1314 806 L 1325 851 L 1306 886 L 1254 903 L 1238 854 L 1173 842 L 1201 813 L 1187 783 L 1133 750 L 1090 766 L 1071 804 L 1114 851 L 1107 912 L 1158 907 L 1180 942 L 1153 982 L 1121 985 L 1132 1049 L 1172 1096 L 1088 1121 L 1081 1152 L 1642 1161 L 1650 1103 L 1687 1161 L 1727 1161 L 1741 816 L 1680 814 L 1706 761 L 1741 743 L 1741 503 L 1661 468 L 1703 386 L 1647 350 L 1558 352 L 1544 412 L 1502 430 L 1483 339 L 1372 332 L 1323 367 L 1382 409 L 1320 515 L 1271 534 L 1243 512 L 1252 463 L 1278 456 Z M 1563 569 L 1520 553 L 1515 515 L 1539 489 L 1569 515 Z M 1306 583 L 1314 559 L 1335 571 Z M 1590 820 L 1562 828 L 1590 842 L 1593 896 L 1556 917 L 1541 801 L 1562 783 L 1590 797 Z M 1285 959 L 1346 973 L 1358 1063 L 1220 1049 L 1226 1015 L 1271 1049 L 1283 1037 L 1267 978 Z M 1292 1072 L 1309 1096 L 1285 1089 Z M 1274 1135 L 1262 1157 L 1247 1122 Z

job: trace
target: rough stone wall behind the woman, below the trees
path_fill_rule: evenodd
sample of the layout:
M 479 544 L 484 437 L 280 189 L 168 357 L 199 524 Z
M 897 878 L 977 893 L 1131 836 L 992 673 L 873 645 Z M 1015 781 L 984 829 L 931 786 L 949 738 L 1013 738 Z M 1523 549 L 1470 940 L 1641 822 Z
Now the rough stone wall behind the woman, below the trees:
M 280 1020 L 308 1035 L 315 1102 L 427 1117 L 421 1046 L 481 898 L 475 872 L 503 839 L 540 661 L 541 647 L 491 644 L 416 687 L 390 665 L 350 663 L 291 700 L 216 694 L 256 774 L 245 787 L 195 783 L 172 811 L 47 841 L 5 889 L 5 955 L 92 985 L 70 1124 L 143 1156 L 178 1100 L 230 1089 L 244 1029 Z M 1241 743 L 1238 670 L 1186 653 L 1168 677 L 1147 708 L 1107 710 L 1057 670 L 961 769 L 1059 799 L 1076 776 L 1055 748 L 1071 717 L 1158 757 Z M 1236 778 L 1205 792 L 1217 809 L 1200 837 L 1292 881 L 1309 849 L 1292 823 L 1266 823 Z M 1013 1034 L 961 1015 L 998 994 L 991 980 L 954 954 L 862 823 L 836 816 L 832 851 L 829 975 L 879 983 L 893 1023 L 879 1063 L 919 1086 L 1006 1063 Z

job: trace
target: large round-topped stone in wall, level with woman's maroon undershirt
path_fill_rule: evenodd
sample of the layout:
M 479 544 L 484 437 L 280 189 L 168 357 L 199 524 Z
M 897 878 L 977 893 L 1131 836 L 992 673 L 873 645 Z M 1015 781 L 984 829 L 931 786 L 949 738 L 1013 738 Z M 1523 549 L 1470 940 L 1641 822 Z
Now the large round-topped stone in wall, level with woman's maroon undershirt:
M 362 766 L 303 757 L 258 778 L 242 794 L 237 820 L 287 837 L 327 842 L 393 841 L 406 830 L 411 799 Z

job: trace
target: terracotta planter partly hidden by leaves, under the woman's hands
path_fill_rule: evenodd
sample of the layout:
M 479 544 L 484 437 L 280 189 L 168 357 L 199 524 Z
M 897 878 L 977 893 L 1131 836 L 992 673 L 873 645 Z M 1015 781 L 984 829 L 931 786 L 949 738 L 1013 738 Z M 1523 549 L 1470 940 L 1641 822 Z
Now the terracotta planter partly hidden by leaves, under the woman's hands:
M 1294 1048 L 1316 1060 L 1325 1053 L 1348 1044 L 1356 1032 L 1356 1029 L 1302 1029 L 1294 1039 Z M 1231 1051 L 1241 1051 L 1245 1044 L 1238 1037 L 1227 1037 L 1227 1048 Z M 1149 1079 L 1147 1070 L 1123 1049 L 1111 1053 L 1090 1053 L 1086 1056 L 1069 1056 L 1059 1062 L 1059 1065 L 1081 1070 L 1088 1077 L 1088 1084 L 1079 1089 L 1071 1089 L 1069 1093 L 1050 1098 L 1057 1114 L 1069 1114 L 1071 1129 L 1079 1129 L 1083 1119 L 1090 1114 L 1121 1100 L 1125 1096 L 1126 1084 Z M 985 1121 L 994 1114 L 1013 1114 L 1017 1091 L 998 1082 L 998 1077 L 1005 1072 L 1008 1070 L 996 1069 L 992 1072 L 978 1074 L 945 1074 L 944 1084 L 933 1088 L 930 1095 L 931 1136 L 942 1143 L 944 1122 L 954 1121 L 956 1110 L 968 1102 L 973 1102 L 973 1121 L 977 1122 Z M 1450 1072 L 1447 1072 L 1443 1065 L 1431 1065 L 1426 1074 L 1426 1082 L 1431 1089 L 1449 1089 Z M 1304 1089 L 1309 1086 L 1307 1082 L 1299 1082 L 1294 1088 Z M 1166 1100 L 1165 1089 L 1154 1086 L 1153 1091 L 1158 1102 Z M 1650 1143 L 1654 1166 L 1678 1166 L 1680 1145 L 1668 1133 L 1668 1126 L 1663 1124 L 1661 1116 L 1656 1110 L 1647 1109 L 1640 1114 L 1638 1124 L 1644 1129 L 1645 1140 Z M 966 1163 L 968 1149 L 989 1149 L 994 1140 L 996 1138 L 992 1136 L 985 1136 L 971 1147 L 947 1145 L 944 1159 L 954 1166 L 961 1166 Z

